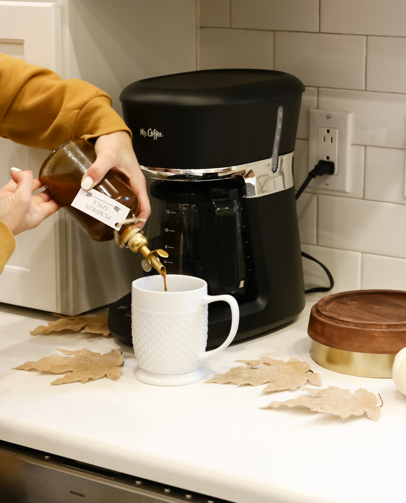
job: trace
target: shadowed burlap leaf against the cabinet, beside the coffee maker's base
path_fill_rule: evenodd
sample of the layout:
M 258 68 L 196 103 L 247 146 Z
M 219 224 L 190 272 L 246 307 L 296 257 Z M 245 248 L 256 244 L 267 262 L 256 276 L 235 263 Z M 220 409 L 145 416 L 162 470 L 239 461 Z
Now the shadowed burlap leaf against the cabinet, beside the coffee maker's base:
M 48 326 L 37 326 L 31 332 L 31 335 L 36 336 L 38 333 L 47 334 L 66 329 L 74 332 L 81 330 L 83 333 L 100 333 L 105 337 L 111 335 L 107 327 L 106 314 L 98 314 L 97 316 L 62 316 L 61 314 L 54 314 L 54 316 L 58 316 L 59 319 L 49 321 Z

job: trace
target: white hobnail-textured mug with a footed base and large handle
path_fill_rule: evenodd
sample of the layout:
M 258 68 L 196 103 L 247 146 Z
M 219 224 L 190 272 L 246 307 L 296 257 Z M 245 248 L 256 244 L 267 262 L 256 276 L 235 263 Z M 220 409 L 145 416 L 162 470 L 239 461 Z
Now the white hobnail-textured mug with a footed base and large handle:
M 140 368 L 138 380 L 177 386 L 204 377 L 202 360 L 227 348 L 237 333 L 239 309 L 231 295 L 208 295 L 205 280 L 168 274 L 168 291 L 161 276 L 132 282 L 132 344 Z M 231 329 L 218 348 L 205 351 L 208 304 L 224 300 L 231 307 Z

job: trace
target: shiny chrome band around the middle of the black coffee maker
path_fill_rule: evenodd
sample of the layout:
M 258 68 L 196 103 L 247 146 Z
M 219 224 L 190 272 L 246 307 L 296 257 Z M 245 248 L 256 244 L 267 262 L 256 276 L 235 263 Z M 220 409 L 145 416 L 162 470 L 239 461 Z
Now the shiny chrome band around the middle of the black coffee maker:
M 144 174 L 151 179 L 184 182 L 199 182 L 242 176 L 245 182 L 245 197 L 260 197 L 274 194 L 294 185 L 293 157 L 295 152 L 279 156 L 278 169 L 273 173 L 272 157 L 238 166 L 214 167 L 207 170 L 169 170 L 159 167 L 141 166 Z

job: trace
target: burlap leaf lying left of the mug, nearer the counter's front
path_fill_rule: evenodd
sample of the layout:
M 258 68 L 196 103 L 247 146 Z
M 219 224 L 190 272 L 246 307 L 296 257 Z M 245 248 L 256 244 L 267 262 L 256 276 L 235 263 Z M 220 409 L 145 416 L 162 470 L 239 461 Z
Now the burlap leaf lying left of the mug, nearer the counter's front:
M 37 370 L 38 372 L 52 372 L 53 374 L 64 374 L 65 376 L 52 381 L 51 384 L 65 384 L 69 382 L 86 382 L 89 379 L 101 379 L 108 377 L 113 381 L 121 375 L 123 357 L 113 349 L 110 353 L 101 355 L 93 353 L 88 349 L 79 351 L 70 351 L 67 349 L 58 349 L 66 356 L 51 355 L 41 358 L 37 362 L 26 362 L 14 370 Z

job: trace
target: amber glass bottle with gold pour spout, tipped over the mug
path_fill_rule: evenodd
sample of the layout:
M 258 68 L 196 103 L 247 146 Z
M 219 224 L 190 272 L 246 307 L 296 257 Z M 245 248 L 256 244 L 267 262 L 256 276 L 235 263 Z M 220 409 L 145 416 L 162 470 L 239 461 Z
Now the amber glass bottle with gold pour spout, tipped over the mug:
M 73 217 L 88 236 L 95 241 L 110 241 L 114 239 L 114 229 L 112 227 L 71 206 L 81 189 L 83 175 L 95 160 L 95 149 L 93 145 L 87 143 L 85 140 L 79 139 L 64 143 L 45 159 L 39 172 L 39 180 L 50 196 Z M 137 215 L 138 198 L 132 192 L 122 174 L 109 171 L 92 191 L 101 192 L 105 196 L 129 208 L 130 212 L 127 218 Z M 157 254 L 154 257 L 150 256 L 151 252 L 147 247 L 147 239 L 137 232 L 137 227 L 134 223 L 125 223 L 121 226 L 118 230 L 120 238 L 123 238 L 125 233 L 127 237 L 123 244 L 126 245 L 129 245 L 131 239 L 134 241 L 134 235 L 137 234 L 139 245 L 136 246 L 134 241 L 134 244 L 129 245 L 129 247 L 132 251 L 141 251 L 146 258 L 149 257 L 148 260 L 152 266 L 163 276 L 165 291 L 167 291 L 166 269 L 159 261 Z M 131 234 L 132 236 L 128 240 L 128 236 Z M 158 251 L 165 253 L 164 250 Z

